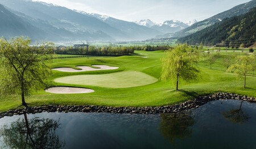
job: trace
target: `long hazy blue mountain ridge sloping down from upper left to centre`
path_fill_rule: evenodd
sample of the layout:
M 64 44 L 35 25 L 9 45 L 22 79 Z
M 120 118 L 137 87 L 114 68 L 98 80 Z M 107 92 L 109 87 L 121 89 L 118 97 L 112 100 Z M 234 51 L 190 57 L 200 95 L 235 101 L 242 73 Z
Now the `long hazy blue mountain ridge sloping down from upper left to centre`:
M 55 40 L 142 40 L 160 34 L 132 22 L 111 17 L 99 19 L 43 2 L 1 0 L 0 3 L 25 22 L 56 35 Z

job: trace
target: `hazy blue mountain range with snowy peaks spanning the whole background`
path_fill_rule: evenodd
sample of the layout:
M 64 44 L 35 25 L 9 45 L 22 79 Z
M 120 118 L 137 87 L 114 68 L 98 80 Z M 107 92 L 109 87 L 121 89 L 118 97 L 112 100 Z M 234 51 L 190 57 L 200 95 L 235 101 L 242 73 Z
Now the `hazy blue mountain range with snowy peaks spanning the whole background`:
M 200 22 L 166 20 L 155 23 L 149 19 L 127 22 L 31 0 L 1 0 L 0 36 L 11 38 L 23 35 L 32 40 L 52 42 L 180 38 L 213 26 L 225 18 L 246 14 L 255 6 L 256 0 L 253 0 Z

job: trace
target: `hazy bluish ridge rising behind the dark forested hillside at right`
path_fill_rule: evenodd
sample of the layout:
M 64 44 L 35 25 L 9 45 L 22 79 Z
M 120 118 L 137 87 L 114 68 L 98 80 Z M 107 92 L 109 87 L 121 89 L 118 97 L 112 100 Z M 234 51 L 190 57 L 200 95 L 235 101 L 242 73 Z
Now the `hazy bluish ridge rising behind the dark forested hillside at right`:
M 238 16 L 238 15 L 248 13 L 249 10 L 255 6 L 256 6 L 256 0 L 253 0 L 253 1 L 250 1 L 247 3 L 243 3 L 241 5 L 233 7 L 230 10 L 224 11 L 224 12 L 214 15 L 208 19 L 197 22 L 197 23 L 193 24 L 192 26 L 185 28 L 184 30 L 176 32 L 174 34 L 174 36 L 175 37 L 184 37 L 184 36 L 193 34 L 197 31 L 203 30 L 204 28 L 212 26 L 213 24 L 215 24 L 217 22 L 221 22 L 221 20 L 223 20 L 225 18 L 231 18 L 233 16 Z

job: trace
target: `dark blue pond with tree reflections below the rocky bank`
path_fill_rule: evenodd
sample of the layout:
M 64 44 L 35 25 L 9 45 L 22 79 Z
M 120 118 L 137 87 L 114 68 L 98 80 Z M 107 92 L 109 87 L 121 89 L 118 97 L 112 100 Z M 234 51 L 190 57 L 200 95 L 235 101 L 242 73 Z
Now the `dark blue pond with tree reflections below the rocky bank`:
M 0 119 L 0 148 L 256 148 L 255 138 L 255 104 L 237 100 L 176 114 L 40 113 Z

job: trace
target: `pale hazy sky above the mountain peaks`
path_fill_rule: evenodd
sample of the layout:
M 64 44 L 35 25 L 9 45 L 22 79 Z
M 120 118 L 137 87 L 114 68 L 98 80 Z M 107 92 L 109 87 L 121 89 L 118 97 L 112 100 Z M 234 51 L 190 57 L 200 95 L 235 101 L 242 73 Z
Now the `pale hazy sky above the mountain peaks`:
M 38 0 L 33 0 L 38 1 Z M 113 18 L 135 21 L 151 19 L 198 21 L 229 10 L 250 0 L 39 0 L 64 6 L 68 9 L 97 13 Z

